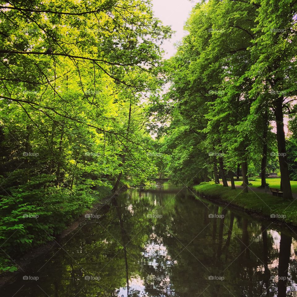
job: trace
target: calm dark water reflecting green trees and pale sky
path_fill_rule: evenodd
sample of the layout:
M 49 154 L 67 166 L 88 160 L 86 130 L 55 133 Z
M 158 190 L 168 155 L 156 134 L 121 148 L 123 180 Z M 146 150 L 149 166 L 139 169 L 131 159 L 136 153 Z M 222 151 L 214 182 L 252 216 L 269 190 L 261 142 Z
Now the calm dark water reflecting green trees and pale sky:
M 133 189 L 34 260 L 0 296 L 297 296 L 295 238 L 289 228 L 195 200 L 181 187 Z

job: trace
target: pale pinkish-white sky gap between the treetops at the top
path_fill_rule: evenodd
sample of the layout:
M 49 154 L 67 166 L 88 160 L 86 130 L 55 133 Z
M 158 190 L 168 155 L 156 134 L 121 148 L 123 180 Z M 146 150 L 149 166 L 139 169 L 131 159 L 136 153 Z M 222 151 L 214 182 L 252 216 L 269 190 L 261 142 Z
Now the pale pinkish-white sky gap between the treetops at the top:
M 197 2 L 197 0 L 191 2 L 189 0 L 152 0 L 155 16 L 161 19 L 164 25 L 170 25 L 173 31 L 176 31 L 170 41 L 163 43 L 165 59 L 176 53 L 174 43 L 182 40 L 183 36 L 187 34 L 183 30 L 183 26 L 192 11 L 192 7 Z

